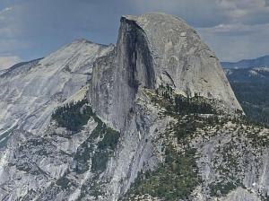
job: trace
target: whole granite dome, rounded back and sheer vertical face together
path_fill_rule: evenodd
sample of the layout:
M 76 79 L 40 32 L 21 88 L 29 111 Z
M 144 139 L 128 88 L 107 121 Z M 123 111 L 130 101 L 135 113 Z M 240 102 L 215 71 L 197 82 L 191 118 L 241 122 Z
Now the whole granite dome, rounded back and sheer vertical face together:
M 157 89 L 169 84 L 186 96 L 196 92 L 223 100 L 230 109 L 241 109 L 214 53 L 186 22 L 171 15 L 123 16 L 117 47 L 108 60 L 113 63 L 113 70 L 104 58 L 96 63 L 95 70 L 102 71 L 102 66 L 110 68 L 112 74 L 101 75 L 109 85 L 100 82 L 100 74 L 92 79 L 90 99 L 99 97 L 91 99 L 94 108 L 118 128 L 124 127 L 139 87 Z M 104 94 L 107 88 L 113 88 L 109 99 Z

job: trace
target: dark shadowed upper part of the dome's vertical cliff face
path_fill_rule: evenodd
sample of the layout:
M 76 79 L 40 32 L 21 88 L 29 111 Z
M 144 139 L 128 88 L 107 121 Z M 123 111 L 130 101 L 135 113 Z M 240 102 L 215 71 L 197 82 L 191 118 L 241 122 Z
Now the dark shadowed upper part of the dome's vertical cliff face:
M 118 52 L 121 52 L 121 55 L 117 61 L 123 68 L 126 67 L 126 72 L 128 72 L 126 81 L 136 91 L 139 85 L 154 89 L 156 78 L 153 59 L 143 29 L 125 17 L 122 17 L 121 23 L 117 42 Z

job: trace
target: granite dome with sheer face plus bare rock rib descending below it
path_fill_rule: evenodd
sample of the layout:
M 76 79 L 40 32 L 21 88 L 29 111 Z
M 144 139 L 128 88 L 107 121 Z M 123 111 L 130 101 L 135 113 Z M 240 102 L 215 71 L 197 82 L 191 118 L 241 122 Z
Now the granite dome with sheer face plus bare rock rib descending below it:
M 157 137 L 152 127 L 160 130 L 169 120 L 146 106 L 143 89 L 167 84 L 186 96 L 197 92 L 241 109 L 219 61 L 186 22 L 163 13 L 123 16 L 117 46 L 94 64 L 88 92 L 100 118 L 122 135 L 105 175 L 110 199 L 124 194 L 137 172 L 162 160 L 151 143 Z

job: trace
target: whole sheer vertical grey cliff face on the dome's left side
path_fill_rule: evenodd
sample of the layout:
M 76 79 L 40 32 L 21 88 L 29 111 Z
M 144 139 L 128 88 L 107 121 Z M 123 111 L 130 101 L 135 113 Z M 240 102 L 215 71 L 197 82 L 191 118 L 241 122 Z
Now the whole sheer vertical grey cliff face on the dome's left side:
M 148 45 L 144 31 L 135 22 L 122 18 L 117 47 L 94 66 L 89 98 L 100 116 L 113 122 L 115 127 L 124 127 L 139 87 L 155 89 L 155 71 Z M 103 69 L 110 73 L 98 73 Z

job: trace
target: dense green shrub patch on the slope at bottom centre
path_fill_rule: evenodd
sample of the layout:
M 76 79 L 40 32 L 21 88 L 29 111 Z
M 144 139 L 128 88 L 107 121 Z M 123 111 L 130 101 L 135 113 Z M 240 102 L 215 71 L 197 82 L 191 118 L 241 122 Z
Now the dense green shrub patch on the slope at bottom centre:
M 145 194 L 168 201 L 187 199 L 200 181 L 195 149 L 188 147 L 185 153 L 178 153 L 169 145 L 165 162 L 157 170 L 140 173 L 124 200 Z

